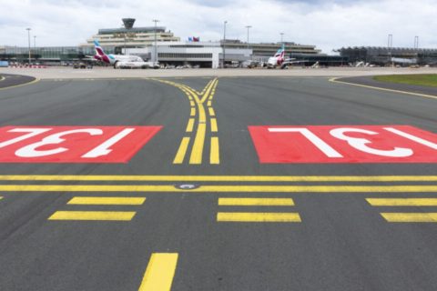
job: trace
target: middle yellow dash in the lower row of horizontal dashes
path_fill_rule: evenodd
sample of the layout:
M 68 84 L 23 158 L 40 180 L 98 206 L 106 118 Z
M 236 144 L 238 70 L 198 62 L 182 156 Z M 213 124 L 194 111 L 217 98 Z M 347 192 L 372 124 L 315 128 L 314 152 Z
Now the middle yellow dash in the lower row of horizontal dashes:
M 301 222 L 298 213 L 219 212 L 219 222 Z

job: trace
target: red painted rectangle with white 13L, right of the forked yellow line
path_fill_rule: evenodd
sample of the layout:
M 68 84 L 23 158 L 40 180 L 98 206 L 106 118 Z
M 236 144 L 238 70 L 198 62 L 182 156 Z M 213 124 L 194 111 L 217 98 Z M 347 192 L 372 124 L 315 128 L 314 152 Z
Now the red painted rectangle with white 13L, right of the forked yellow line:
M 249 126 L 260 163 L 437 163 L 437 135 L 409 125 Z

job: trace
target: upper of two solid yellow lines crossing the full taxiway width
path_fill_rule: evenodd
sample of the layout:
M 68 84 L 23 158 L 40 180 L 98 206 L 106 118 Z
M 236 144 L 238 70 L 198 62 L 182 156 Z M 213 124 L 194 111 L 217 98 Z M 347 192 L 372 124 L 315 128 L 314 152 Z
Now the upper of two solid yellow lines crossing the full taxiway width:
M 189 140 L 189 137 L 187 137 Z M 435 182 L 437 176 L 72 176 L 2 175 L 0 181 Z

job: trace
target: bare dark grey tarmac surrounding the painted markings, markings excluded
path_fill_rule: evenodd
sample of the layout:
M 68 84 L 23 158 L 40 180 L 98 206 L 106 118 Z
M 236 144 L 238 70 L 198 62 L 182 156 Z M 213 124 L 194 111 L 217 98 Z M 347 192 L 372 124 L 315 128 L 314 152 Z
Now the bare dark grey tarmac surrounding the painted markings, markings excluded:
M 436 100 L 329 79 L 219 77 L 211 99 L 218 131 L 208 127 L 204 145 L 208 149 L 210 137 L 219 138 L 218 165 L 208 163 L 208 150 L 203 151 L 200 165 L 189 164 L 188 158 L 174 164 L 181 139 L 188 136 L 190 118 L 189 94 L 180 85 L 201 95 L 213 77 L 44 79 L 0 91 L 0 127 L 163 126 L 126 164 L 0 164 L 0 189 L 26 185 L 43 189 L 0 190 L 0 290 L 161 290 L 147 286 L 147 282 L 141 285 L 152 254 L 178 254 L 174 276 L 169 279 L 171 290 L 436 290 L 437 225 L 388 223 L 380 213 L 435 213 L 437 206 L 400 209 L 371 206 L 366 201 L 378 197 L 437 198 L 436 191 L 269 190 L 269 186 L 420 188 L 435 186 L 432 178 L 217 181 L 220 176 L 436 176 L 435 163 L 259 163 L 249 125 L 412 125 L 437 133 Z M 206 111 L 209 126 L 211 116 Z M 194 132 L 199 124 L 196 119 Z M 189 136 L 194 138 L 194 133 Z M 28 178 L 20 181 L 10 176 Z M 31 176 L 157 179 L 45 181 Z M 198 176 L 207 178 L 199 181 Z M 196 189 L 178 189 L 190 184 Z M 152 190 L 45 191 L 50 185 L 152 186 Z M 174 191 L 154 191 L 153 186 L 170 186 Z M 203 191 L 207 186 L 267 187 L 263 192 Z M 146 201 L 135 206 L 67 204 L 76 196 L 146 197 Z M 294 206 L 219 205 L 219 198 L 229 197 L 291 198 Z M 49 220 L 56 211 L 135 212 L 135 216 L 128 221 Z M 297 213 L 300 222 L 218 221 L 218 213 L 228 212 Z

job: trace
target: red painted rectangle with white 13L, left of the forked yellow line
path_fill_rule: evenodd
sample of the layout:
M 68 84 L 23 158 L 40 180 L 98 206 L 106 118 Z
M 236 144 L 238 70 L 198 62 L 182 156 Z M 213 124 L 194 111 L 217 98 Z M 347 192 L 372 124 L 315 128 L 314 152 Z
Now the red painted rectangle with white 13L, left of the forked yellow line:
M 0 127 L 2 163 L 127 163 L 161 126 Z

